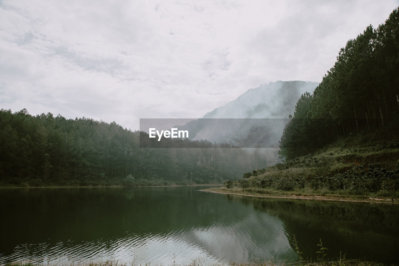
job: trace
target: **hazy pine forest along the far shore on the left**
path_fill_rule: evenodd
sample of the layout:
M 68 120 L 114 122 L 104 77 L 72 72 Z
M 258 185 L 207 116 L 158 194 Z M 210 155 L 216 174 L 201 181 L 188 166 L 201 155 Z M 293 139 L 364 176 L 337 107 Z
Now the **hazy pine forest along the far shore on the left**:
M 143 133 L 141 133 L 143 134 Z M 123 185 L 130 179 L 219 183 L 259 163 L 239 148 L 185 140 L 140 148 L 140 131 L 93 119 L 65 119 L 26 109 L 0 111 L 0 183 Z M 182 140 L 177 140 L 182 141 Z M 265 162 L 262 162 L 264 164 Z M 129 180 L 128 180 L 129 181 Z M 126 182 L 125 182 L 126 183 Z

